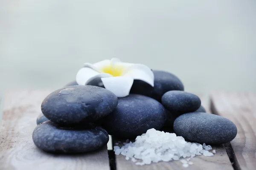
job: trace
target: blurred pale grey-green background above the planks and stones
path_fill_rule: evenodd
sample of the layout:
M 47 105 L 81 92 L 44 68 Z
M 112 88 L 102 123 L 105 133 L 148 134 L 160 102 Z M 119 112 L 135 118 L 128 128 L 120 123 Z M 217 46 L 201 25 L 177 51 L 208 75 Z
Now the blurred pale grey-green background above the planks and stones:
M 185 91 L 256 92 L 255 0 L 2 0 L 0 91 L 57 89 L 117 57 Z

